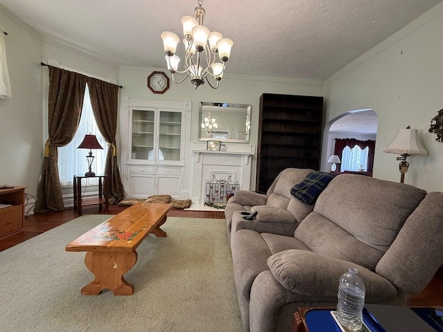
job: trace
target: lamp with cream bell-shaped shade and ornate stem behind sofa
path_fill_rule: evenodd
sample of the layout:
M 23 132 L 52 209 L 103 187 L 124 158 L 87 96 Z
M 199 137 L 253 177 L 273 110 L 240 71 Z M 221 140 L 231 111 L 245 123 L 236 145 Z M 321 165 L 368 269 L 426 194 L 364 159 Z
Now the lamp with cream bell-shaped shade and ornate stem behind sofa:
M 409 163 L 406 161 L 406 158 L 413 154 L 422 154 L 424 156 L 428 154 L 428 151 L 426 151 L 419 140 L 418 130 L 410 129 L 409 126 L 406 129 L 400 129 L 392 142 L 383 149 L 383 152 L 401 155 L 401 157 L 397 157 L 397 160 L 401 160 L 399 163 L 401 183 L 404 183 L 404 174 L 408 172 Z

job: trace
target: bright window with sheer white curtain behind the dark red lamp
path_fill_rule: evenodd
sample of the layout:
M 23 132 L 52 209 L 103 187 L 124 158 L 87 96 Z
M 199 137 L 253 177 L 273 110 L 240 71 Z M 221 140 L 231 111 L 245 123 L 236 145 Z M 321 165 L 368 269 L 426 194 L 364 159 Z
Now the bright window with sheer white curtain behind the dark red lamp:
M 96 135 L 98 142 L 103 147 L 102 150 L 96 149 L 92 151 L 95 157 L 92 163 L 92 171 L 96 172 L 96 174 L 102 174 L 105 172 L 107 142 L 98 130 L 96 119 L 93 116 L 88 86 L 86 86 L 84 91 L 82 116 L 80 117 L 77 132 L 68 145 L 58 149 L 58 174 L 62 187 L 72 186 L 75 174 L 84 174 L 88 171 L 86 156 L 89 151 L 87 149 L 77 149 L 87 133 Z M 91 178 L 88 184 L 93 185 L 97 183 L 97 178 Z

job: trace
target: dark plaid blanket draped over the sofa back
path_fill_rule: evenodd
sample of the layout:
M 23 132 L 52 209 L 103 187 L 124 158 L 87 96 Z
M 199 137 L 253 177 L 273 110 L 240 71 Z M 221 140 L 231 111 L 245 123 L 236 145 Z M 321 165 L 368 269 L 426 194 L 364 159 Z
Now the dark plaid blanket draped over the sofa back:
M 302 202 L 314 204 L 318 195 L 323 192 L 336 175 L 329 172 L 311 172 L 306 176 L 305 180 L 291 188 L 291 195 Z

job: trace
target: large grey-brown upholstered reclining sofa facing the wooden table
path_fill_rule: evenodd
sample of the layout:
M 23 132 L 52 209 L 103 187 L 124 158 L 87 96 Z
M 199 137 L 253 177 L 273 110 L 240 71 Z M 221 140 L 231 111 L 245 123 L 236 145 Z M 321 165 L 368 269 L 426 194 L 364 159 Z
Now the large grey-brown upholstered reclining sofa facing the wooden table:
M 443 193 L 340 174 L 313 205 L 289 190 L 311 169 L 285 169 L 265 194 L 237 191 L 225 215 L 244 330 L 291 331 L 299 306 L 336 306 L 354 266 L 366 302 L 405 304 L 443 263 Z M 257 211 L 245 220 L 247 211 Z

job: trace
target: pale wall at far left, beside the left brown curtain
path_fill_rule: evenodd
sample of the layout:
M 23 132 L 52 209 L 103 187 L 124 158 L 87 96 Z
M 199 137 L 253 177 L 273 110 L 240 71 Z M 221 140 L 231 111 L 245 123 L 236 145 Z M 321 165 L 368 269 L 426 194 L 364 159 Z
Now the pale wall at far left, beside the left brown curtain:
M 0 100 L 0 185 L 24 185 L 37 195 L 42 165 L 42 43 L 0 6 L 12 98 Z

